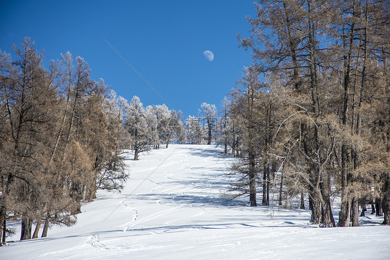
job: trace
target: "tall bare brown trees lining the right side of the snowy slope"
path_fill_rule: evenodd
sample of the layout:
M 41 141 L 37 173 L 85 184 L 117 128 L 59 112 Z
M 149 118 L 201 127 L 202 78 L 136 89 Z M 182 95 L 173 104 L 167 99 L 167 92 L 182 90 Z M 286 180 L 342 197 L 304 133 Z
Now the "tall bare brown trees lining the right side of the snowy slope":
M 312 223 L 358 226 L 375 204 L 390 224 L 390 78 L 387 1 L 277 0 L 256 4 L 239 37 L 253 66 L 226 105 L 225 143 L 241 163 L 235 190 L 269 205 L 308 194 Z M 267 80 L 262 82 L 262 78 Z M 332 196 L 341 197 L 339 220 Z

